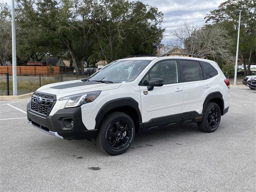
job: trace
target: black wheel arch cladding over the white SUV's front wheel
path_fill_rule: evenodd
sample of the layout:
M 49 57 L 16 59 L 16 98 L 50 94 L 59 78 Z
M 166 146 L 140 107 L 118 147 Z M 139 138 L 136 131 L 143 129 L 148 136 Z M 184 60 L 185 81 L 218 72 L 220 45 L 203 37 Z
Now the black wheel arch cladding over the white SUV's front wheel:
M 97 129 L 100 126 L 102 119 L 108 112 L 113 111 L 115 109 L 118 110 L 118 108 L 125 108 L 125 107 L 132 108 L 133 110 L 135 110 L 137 113 L 136 115 L 138 116 L 138 123 L 142 122 L 142 116 L 140 113 L 138 102 L 131 97 L 118 98 L 118 99 L 113 99 L 113 100 L 106 102 L 100 108 L 100 110 L 95 118 L 95 121 L 96 121 L 95 129 Z

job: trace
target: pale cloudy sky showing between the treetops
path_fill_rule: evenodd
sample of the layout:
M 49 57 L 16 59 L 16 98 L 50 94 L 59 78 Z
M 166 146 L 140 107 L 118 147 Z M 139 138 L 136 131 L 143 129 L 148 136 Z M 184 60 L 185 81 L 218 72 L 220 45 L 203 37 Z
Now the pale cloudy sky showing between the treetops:
M 226 0 L 140 0 L 145 4 L 156 6 L 164 14 L 162 26 L 166 28 L 166 35 L 183 21 L 193 22 L 197 26 L 204 25 L 204 17 L 210 10 L 218 8 Z M 11 0 L 0 0 L 8 2 Z M 166 37 L 163 42 L 167 42 Z

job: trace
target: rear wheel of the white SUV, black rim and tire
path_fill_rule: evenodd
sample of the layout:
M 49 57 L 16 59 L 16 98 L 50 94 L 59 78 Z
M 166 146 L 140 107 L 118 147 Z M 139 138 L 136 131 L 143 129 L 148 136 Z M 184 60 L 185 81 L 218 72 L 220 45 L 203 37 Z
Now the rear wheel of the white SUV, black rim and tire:
M 214 132 L 220 125 L 221 112 L 218 104 L 209 102 L 204 109 L 204 117 L 198 122 L 198 127 L 204 132 Z

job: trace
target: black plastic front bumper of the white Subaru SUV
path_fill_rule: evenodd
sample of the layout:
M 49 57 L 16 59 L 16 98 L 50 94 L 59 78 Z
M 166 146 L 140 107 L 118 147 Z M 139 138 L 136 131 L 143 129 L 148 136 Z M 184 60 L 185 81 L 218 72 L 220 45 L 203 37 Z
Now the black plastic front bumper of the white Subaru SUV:
M 68 140 L 81 140 L 94 138 L 97 129 L 87 130 L 82 122 L 81 108 L 64 108 L 52 116 L 42 116 L 31 109 L 31 103 L 27 106 L 28 122 L 34 128 L 47 134 Z M 70 122 L 73 121 L 73 125 Z

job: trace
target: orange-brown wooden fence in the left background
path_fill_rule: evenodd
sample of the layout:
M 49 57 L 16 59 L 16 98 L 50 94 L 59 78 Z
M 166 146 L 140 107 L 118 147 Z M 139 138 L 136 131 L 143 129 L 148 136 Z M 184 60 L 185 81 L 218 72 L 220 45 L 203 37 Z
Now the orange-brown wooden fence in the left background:
M 52 68 L 52 70 L 50 70 Z M 12 66 L 0 66 L 0 74 L 9 73 L 12 75 Z M 42 76 L 48 76 L 51 74 L 60 73 L 59 66 L 17 66 L 17 75 L 31 75 L 41 74 Z

